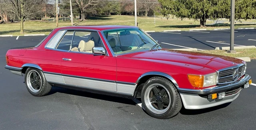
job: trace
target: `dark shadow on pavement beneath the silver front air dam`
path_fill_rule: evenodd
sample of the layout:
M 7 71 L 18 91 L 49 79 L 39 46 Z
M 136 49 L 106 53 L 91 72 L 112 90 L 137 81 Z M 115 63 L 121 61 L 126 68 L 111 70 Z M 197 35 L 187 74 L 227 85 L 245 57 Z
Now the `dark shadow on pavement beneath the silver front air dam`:
M 227 107 L 229 104 L 231 104 L 231 102 L 225 103 L 225 104 L 221 104 L 219 106 L 214 106 L 214 107 L 210 107 L 210 108 L 204 108 L 204 109 L 197 109 L 197 110 L 190 110 L 190 109 L 185 109 L 183 106 L 180 110 L 180 114 L 183 115 L 197 115 L 197 114 L 203 114 L 203 113 L 208 113 L 208 112 L 212 112 L 214 110 L 218 110 L 218 109 L 222 109 Z

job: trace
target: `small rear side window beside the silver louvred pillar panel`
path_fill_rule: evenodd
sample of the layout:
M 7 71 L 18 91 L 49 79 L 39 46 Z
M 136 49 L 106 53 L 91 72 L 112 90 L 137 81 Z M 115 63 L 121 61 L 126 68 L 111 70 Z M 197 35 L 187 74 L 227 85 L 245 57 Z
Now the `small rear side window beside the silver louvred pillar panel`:
M 64 37 L 62 37 L 62 39 L 60 40 L 60 43 L 57 45 L 56 49 L 69 51 L 73 35 L 74 31 L 66 32 Z

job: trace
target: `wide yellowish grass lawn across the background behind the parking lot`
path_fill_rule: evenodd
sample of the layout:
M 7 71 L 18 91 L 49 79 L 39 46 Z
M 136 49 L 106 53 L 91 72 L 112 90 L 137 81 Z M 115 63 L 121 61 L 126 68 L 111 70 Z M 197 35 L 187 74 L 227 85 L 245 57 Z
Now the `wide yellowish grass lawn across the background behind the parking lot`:
M 180 20 L 178 18 L 158 18 L 156 17 L 156 25 L 154 25 L 154 17 L 137 17 L 138 27 L 142 28 L 145 31 L 163 31 L 163 30 L 190 30 L 199 28 L 199 21 L 194 20 Z M 254 22 L 253 20 L 246 22 Z M 214 23 L 213 21 L 208 20 L 206 24 Z M 58 21 L 59 27 L 62 26 L 71 26 L 70 21 Z M 135 26 L 134 16 L 97 16 L 90 17 L 86 20 L 74 20 L 74 25 L 129 25 Z M 237 23 L 235 28 L 241 27 L 254 27 L 256 24 L 244 24 Z M 35 34 L 35 33 L 44 33 L 48 35 L 56 27 L 56 22 L 53 21 L 44 21 L 44 20 L 30 20 L 24 22 L 24 34 Z M 229 24 L 217 24 L 217 25 L 207 25 L 206 29 L 214 28 L 230 28 Z M 0 24 L 0 35 L 24 35 L 20 34 L 20 23 L 6 23 Z

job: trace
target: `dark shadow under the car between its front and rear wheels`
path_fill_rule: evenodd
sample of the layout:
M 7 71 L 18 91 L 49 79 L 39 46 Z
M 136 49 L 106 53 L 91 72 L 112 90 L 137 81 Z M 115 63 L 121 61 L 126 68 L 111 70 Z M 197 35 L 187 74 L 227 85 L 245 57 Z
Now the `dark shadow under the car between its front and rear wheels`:
M 96 91 L 95 91 L 96 92 Z M 95 98 L 95 99 L 100 99 L 100 100 L 107 100 L 111 102 L 118 102 L 118 103 L 123 103 L 123 104 L 130 104 L 130 105 L 136 105 L 136 103 L 131 100 L 129 97 L 126 96 L 120 96 L 120 95 L 104 95 L 94 93 L 94 91 L 78 91 L 74 89 L 67 89 L 67 88 L 62 88 L 62 87 L 55 87 L 52 86 L 51 91 L 48 93 L 48 95 L 53 95 L 55 93 L 64 93 L 64 94 L 69 94 L 69 95 L 76 95 L 76 96 L 81 96 L 81 97 L 88 97 L 88 98 Z

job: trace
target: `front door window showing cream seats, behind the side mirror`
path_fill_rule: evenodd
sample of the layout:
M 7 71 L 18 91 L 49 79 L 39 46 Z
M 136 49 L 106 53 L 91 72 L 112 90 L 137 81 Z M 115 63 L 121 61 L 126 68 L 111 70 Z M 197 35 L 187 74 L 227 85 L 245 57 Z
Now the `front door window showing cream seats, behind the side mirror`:
M 92 53 L 92 47 L 104 47 L 98 32 L 75 31 L 71 51 Z

